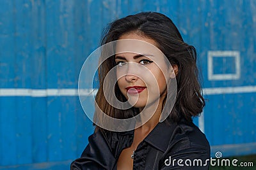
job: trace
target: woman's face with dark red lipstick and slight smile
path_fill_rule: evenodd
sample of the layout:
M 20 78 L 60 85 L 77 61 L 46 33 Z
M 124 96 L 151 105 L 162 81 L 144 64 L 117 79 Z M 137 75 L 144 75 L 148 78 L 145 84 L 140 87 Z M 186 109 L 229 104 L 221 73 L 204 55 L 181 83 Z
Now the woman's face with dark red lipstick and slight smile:
M 136 33 L 124 34 L 119 39 L 138 39 L 157 45 L 153 39 Z M 131 46 L 130 49 L 136 48 L 136 53 L 126 50 L 127 44 L 124 45 L 119 41 L 116 44 L 116 77 L 120 91 L 136 108 L 144 108 L 146 104 L 155 103 L 158 99 L 159 104 L 163 103 L 163 98 L 166 96 L 165 77 L 168 77 L 168 66 L 163 53 L 152 52 L 132 42 L 128 46 Z

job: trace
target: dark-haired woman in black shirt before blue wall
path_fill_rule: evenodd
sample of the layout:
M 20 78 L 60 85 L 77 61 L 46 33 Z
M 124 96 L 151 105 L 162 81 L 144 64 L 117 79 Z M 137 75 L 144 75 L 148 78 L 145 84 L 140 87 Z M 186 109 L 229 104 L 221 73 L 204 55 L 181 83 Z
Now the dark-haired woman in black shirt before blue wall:
M 121 119 L 145 114 L 131 131 L 114 132 L 97 126 L 71 169 L 208 169 L 209 143 L 191 118 L 199 115 L 205 105 L 195 48 L 184 43 L 170 18 L 155 12 L 129 15 L 112 22 L 102 45 L 113 41 L 115 55 L 104 60 L 99 68 L 100 87 L 96 96 L 99 110 Z M 141 42 L 156 46 L 163 55 L 152 55 L 157 50 L 148 53 L 150 48 L 141 47 Z M 131 52 L 127 50 L 130 45 L 143 50 Z M 113 68 L 115 76 L 104 87 L 105 78 Z M 173 86 L 173 80 L 177 87 Z M 111 86 L 115 87 L 115 95 L 109 96 L 128 101 L 131 108 L 120 109 L 109 104 L 104 90 Z M 175 88 L 177 94 L 173 100 Z M 96 122 L 104 122 L 99 110 L 95 111 Z

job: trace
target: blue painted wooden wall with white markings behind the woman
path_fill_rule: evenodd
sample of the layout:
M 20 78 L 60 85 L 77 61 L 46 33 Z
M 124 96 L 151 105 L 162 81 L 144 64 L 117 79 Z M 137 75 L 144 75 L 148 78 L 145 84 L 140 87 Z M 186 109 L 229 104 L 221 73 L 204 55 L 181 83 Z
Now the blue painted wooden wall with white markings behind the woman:
M 0 169 L 68 169 L 93 132 L 79 71 L 112 20 L 172 18 L 198 51 L 212 155 L 256 153 L 255 1 L 0 1 Z M 209 62 L 211 60 L 211 62 Z

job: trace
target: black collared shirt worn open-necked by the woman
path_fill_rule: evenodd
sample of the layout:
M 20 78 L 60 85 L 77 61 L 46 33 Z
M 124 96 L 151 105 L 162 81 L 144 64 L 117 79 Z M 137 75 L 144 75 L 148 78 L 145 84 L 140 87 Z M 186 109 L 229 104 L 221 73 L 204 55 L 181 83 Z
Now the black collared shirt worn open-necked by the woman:
M 131 146 L 133 135 L 134 131 L 93 133 L 70 169 L 116 169 L 118 157 Z M 138 145 L 133 169 L 209 169 L 209 159 L 209 142 L 193 122 L 166 119 Z

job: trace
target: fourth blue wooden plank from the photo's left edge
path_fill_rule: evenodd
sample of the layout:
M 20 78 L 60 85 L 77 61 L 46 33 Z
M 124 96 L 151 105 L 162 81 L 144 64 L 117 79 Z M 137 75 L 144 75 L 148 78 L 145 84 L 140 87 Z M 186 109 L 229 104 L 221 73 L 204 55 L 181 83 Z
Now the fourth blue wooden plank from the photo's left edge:
M 65 24 L 64 1 L 45 1 L 45 15 L 47 47 L 46 47 L 46 86 L 48 88 L 65 87 L 61 80 L 60 67 L 63 66 L 63 50 L 68 43 L 68 32 L 63 31 Z M 65 75 L 65 73 L 64 73 Z M 59 97 L 47 97 L 47 160 L 60 161 L 61 149 L 61 99 Z

